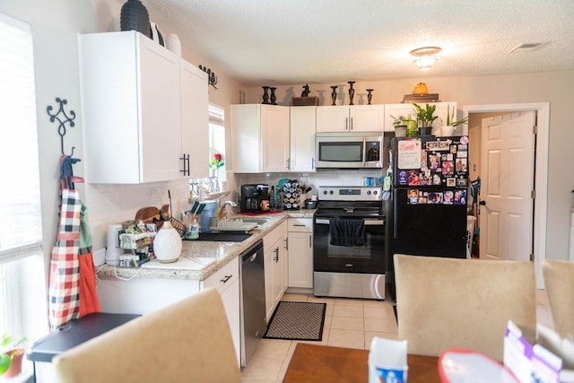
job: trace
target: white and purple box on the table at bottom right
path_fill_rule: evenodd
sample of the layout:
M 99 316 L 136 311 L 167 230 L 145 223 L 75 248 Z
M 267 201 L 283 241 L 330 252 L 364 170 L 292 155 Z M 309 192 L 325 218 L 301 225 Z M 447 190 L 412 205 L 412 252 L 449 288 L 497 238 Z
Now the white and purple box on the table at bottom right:
M 562 360 L 540 344 L 532 344 L 523 331 L 509 321 L 504 337 L 504 365 L 520 382 L 558 383 Z

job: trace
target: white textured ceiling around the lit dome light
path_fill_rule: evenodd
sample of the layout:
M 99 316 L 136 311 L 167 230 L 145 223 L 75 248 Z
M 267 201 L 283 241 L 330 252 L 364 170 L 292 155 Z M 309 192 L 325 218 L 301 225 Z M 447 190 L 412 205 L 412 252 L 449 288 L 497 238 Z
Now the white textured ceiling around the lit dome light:
M 120 1 L 123 3 L 123 1 Z M 574 70 L 573 0 L 142 0 L 161 27 L 241 83 Z M 510 53 L 522 43 L 545 43 Z

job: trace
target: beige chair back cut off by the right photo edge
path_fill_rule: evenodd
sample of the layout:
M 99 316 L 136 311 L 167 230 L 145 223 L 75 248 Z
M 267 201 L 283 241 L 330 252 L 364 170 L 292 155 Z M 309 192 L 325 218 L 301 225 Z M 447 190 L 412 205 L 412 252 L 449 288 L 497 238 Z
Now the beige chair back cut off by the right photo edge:
M 554 331 L 574 338 L 574 263 L 545 259 L 542 271 Z

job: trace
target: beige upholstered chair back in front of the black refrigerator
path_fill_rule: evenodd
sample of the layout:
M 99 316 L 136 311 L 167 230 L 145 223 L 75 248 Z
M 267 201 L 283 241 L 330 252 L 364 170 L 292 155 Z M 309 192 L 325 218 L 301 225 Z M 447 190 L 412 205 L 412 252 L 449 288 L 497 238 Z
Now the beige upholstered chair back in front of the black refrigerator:
M 396 254 L 398 337 L 408 352 L 439 356 L 467 348 L 502 361 L 509 319 L 535 329 L 530 262 Z

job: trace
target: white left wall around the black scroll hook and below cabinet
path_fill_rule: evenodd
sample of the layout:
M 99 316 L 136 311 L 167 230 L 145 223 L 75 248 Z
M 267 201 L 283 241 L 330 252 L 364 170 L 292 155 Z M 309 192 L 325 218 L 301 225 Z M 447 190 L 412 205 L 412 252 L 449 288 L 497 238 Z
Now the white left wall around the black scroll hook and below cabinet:
M 48 120 L 46 108 L 56 106 L 55 98 L 68 100 L 67 109 L 75 111 L 75 126 L 65 135 L 65 152 L 75 146 L 75 158 L 84 158 L 83 124 L 78 70 L 78 33 L 119 30 L 119 13 L 124 1 L 117 0 L 3 0 L 0 12 L 31 26 L 34 39 L 36 71 L 36 102 L 38 106 L 40 181 L 42 189 L 42 222 L 44 253 L 48 264 L 50 250 L 57 230 L 60 142 L 57 126 Z M 156 20 L 152 9 L 150 19 Z M 159 17 L 158 17 L 159 18 Z M 158 23 L 163 36 L 178 33 L 166 22 Z M 186 47 L 182 57 L 194 65 L 207 65 Z M 239 83 L 219 74 L 218 90 L 210 87 L 210 101 L 229 105 L 239 100 Z M 105 112 L 105 111 L 104 111 Z M 205 166 L 208 165 L 208 159 Z M 74 175 L 83 176 L 83 161 L 74 165 Z M 187 180 L 158 182 L 137 186 L 77 185 L 83 202 L 88 206 L 94 249 L 105 246 L 107 227 L 111 223 L 125 222 L 135 217 L 143 206 L 161 206 L 168 203 L 170 189 L 174 212 L 187 206 L 189 187 Z

